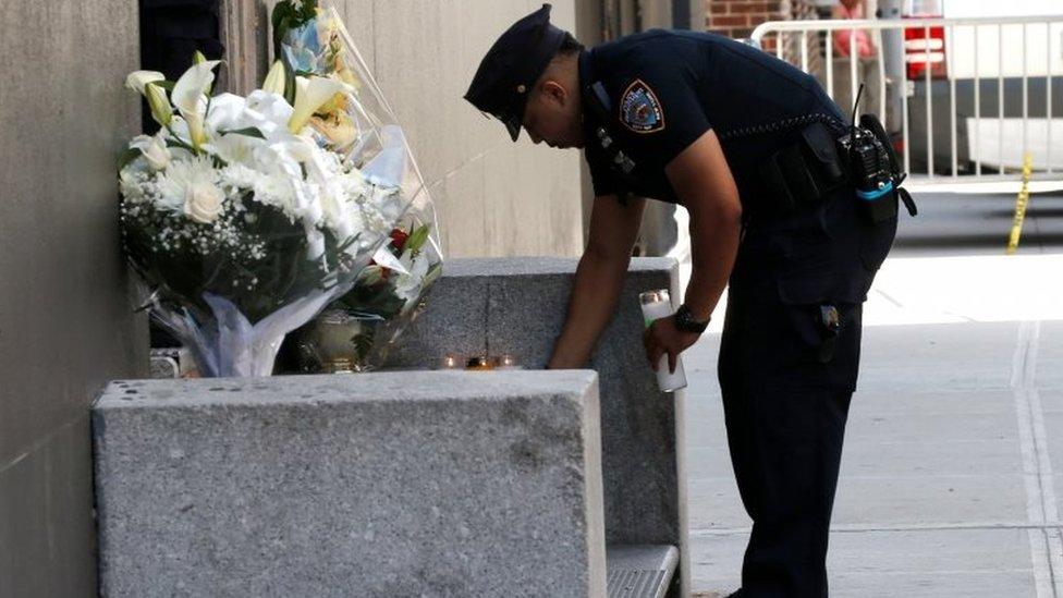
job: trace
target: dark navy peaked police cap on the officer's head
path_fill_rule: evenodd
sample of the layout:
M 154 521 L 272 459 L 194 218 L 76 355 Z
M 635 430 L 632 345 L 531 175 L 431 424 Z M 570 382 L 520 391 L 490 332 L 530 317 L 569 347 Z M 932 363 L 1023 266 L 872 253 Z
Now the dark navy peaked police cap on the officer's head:
M 487 51 L 465 99 L 502 121 L 515 142 L 528 95 L 567 33 L 550 24 L 550 4 L 514 23 Z

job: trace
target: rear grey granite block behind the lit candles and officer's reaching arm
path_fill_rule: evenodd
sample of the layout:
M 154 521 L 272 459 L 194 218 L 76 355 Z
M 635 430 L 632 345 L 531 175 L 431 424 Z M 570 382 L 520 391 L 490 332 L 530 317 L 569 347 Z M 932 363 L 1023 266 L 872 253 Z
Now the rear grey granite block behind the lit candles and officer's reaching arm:
M 428 307 L 389 361 L 394 367 L 433 367 L 448 353 L 512 354 L 541 368 L 561 332 L 577 260 L 566 258 L 452 259 Z M 684 393 L 657 390 L 642 343 L 638 294 L 669 289 L 680 296 L 670 258 L 634 258 L 616 314 L 590 367 L 601 396 L 606 540 L 610 546 L 679 548 L 669 594 L 689 594 Z

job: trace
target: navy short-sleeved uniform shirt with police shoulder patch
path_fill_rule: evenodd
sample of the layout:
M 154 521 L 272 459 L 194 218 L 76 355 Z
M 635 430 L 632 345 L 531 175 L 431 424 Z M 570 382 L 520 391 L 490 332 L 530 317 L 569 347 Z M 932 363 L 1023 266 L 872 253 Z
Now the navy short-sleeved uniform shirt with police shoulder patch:
M 710 129 L 724 138 L 808 114 L 844 125 L 842 112 L 811 75 L 714 34 L 655 29 L 627 36 L 585 51 L 579 78 L 583 89 L 601 82 L 611 105 L 607 123 L 584 107 L 585 156 L 597 196 L 626 191 L 679 203 L 664 167 Z M 635 162 L 630 176 L 612 169 L 598 144 L 595 130 L 601 124 Z M 721 142 L 743 205 L 763 193 L 757 168 L 793 138 L 793 131 Z

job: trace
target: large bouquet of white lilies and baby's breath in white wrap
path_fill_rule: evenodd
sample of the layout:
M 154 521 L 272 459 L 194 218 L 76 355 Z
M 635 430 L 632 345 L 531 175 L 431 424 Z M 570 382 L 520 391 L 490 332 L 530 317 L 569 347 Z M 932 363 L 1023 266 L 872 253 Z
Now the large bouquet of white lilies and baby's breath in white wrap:
M 161 130 L 122 157 L 122 237 L 152 316 L 203 375 L 268 376 L 284 335 L 352 288 L 418 195 L 430 200 L 382 144 L 356 150 L 316 129 L 340 98 L 361 105 L 352 84 L 278 63 L 246 98 L 211 98 L 217 64 L 127 78 Z M 394 125 L 363 112 L 359 135 L 387 138 Z

